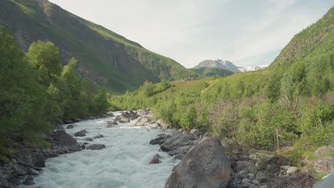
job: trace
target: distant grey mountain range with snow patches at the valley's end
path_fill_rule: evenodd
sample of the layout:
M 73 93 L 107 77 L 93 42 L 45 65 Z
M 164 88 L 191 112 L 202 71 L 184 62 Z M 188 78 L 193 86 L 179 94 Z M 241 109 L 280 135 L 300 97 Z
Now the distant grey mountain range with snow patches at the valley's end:
M 263 66 L 236 66 L 231 61 L 226 61 L 223 59 L 216 59 L 216 60 L 205 60 L 201 63 L 198 63 L 197 66 L 194 68 L 221 68 L 231 71 L 233 73 L 241 73 L 241 72 L 248 72 L 248 71 L 258 71 L 261 69 L 268 68 L 269 65 Z

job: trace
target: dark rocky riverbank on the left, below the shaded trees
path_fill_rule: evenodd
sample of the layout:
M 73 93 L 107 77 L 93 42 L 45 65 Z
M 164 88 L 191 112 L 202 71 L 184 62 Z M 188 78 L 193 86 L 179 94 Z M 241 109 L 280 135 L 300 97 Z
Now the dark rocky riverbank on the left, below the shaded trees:
M 82 120 L 110 117 L 112 113 L 99 115 L 98 117 L 83 117 L 65 120 L 65 123 L 74 123 Z M 73 125 L 69 125 L 71 128 Z M 56 125 L 56 129 L 46 135 L 46 142 L 50 147 L 29 147 L 20 138 L 9 137 L 9 148 L 13 154 L 9 156 L 9 162 L 0 162 L 0 187 L 16 188 L 19 184 L 34 184 L 34 176 L 39 175 L 45 167 L 45 161 L 51 157 L 58 157 L 66 153 L 81 151 L 84 148 L 74 137 Z

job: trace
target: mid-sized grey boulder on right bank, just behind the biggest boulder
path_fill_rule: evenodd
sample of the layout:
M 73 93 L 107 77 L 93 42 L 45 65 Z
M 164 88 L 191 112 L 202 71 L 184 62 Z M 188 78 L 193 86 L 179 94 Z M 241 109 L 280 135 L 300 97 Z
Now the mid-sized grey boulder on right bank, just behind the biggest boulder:
M 190 140 L 186 135 L 178 134 L 171 138 L 168 138 L 166 142 L 163 142 L 160 148 L 163 152 L 170 152 L 171 150 L 177 150 L 183 145 L 189 145 L 189 141 Z

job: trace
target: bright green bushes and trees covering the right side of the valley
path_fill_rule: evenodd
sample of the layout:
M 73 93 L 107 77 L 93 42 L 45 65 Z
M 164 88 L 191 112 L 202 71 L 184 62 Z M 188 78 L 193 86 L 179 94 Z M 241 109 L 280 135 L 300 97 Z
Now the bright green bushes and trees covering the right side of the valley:
M 321 31 L 321 43 L 306 40 L 305 56 L 290 56 L 290 42 L 266 70 L 166 87 L 146 82 L 138 91 L 112 95 L 109 103 L 115 110 L 152 108 L 172 127 L 211 129 L 226 147 L 275 151 L 293 145 L 286 155 L 297 164 L 316 147 L 334 145 L 333 11 L 293 38 L 303 43 Z M 290 56 L 288 63 L 276 66 L 282 56 Z

